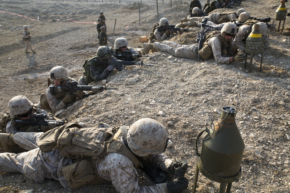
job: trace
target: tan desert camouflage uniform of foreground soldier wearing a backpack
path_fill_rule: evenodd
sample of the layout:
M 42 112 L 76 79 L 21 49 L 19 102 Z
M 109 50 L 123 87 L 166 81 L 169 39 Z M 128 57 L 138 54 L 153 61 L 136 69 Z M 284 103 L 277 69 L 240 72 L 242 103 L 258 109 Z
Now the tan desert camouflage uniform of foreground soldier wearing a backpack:
M 35 140 L 33 143 L 36 144 L 38 137 L 30 137 L 29 140 Z M 172 163 L 172 160 L 163 154 L 153 155 L 148 161 L 160 166 L 166 172 L 168 172 L 167 168 Z M 55 179 L 59 180 L 65 188 L 68 188 L 68 186 L 61 169 L 71 163 L 71 158 L 61 158 L 57 149 L 42 152 L 39 148 L 36 148 L 19 154 L 0 153 L 1 172 L 21 172 L 26 178 L 39 183 L 45 179 Z M 96 168 L 102 178 L 112 181 L 117 192 L 168 193 L 166 183 L 139 186 L 138 173 L 133 162 L 122 154 L 108 153 L 104 155 L 100 162 L 96 163 Z

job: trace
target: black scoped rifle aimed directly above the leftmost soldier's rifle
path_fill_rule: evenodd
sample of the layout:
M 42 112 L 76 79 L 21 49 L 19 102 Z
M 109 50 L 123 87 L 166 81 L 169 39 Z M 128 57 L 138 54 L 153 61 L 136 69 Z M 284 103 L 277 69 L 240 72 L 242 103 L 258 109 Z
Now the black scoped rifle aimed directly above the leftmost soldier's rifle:
M 97 94 L 97 93 L 102 92 L 104 90 L 118 90 L 118 88 L 108 88 L 108 87 L 106 87 L 106 84 L 104 84 L 103 86 L 78 85 L 77 81 L 70 80 L 70 81 L 66 82 L 63 87 L 50 86 L 49 90 L 52 94 L 56 94 L 56 93 L 59 93 L 61 91 L 69 91 L 70 95 L 75 94 L 78 90 L 93 91 L 93 93 L 84 95 L 86 97 L 89 95 Z

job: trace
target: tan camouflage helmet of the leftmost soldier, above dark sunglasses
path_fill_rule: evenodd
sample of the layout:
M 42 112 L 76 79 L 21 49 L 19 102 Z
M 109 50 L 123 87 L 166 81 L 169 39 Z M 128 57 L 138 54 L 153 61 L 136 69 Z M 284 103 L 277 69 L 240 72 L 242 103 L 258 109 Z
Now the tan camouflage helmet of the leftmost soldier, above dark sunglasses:
M 33 107 L 33 103 L 25 96 L 19 95 L 10 99 L 8 107 L 11 117 L 15 118 L 15 115 L 28 112 Z

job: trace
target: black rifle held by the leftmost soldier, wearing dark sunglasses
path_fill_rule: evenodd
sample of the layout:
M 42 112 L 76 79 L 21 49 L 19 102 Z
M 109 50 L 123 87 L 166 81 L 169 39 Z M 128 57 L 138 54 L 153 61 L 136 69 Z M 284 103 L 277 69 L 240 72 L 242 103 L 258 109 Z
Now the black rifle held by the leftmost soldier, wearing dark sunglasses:
M 32 114 L 29 115 L 31 118 L 28 120 L 22 120 L 22 119 L 15 119 L 15 123 L 18 124 L 24 124 L 24 125 L 31 125 L 31 126 L 48 126 L 50 123 L 57 123 L 58 126 L 64 125 L 66 123 L 68 123 L 68 119 L 65 118 L 64 121 L 57 121 L 57 120 L 47 120 L 47 115 L 45 114 Z

